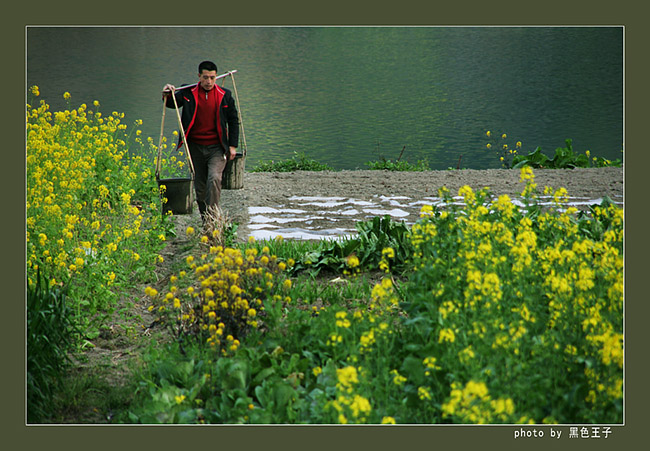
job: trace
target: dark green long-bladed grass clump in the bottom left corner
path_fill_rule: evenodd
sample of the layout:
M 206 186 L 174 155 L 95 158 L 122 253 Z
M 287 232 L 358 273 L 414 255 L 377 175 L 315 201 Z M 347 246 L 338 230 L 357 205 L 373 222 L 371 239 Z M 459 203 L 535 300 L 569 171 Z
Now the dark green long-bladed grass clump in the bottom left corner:
M 49 286 L 37 274 L 27 287 L 27 421 L 39 423 L 52 414 L 51 400 L 61 389 L 74 347 L 72 311 L 65 289 Z

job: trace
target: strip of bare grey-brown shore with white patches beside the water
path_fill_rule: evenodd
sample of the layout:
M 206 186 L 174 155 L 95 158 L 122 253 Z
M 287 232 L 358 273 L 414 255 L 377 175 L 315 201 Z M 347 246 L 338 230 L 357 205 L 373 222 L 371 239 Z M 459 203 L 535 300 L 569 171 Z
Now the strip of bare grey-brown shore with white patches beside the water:
M 623 204 L 622 168 L 537 169 L 534 174 L 540 193 L 545 186 L 564 187 L 578 207 L 599 203 L 604 196 Z M 421 205 L 435 202 L 443 186 L 453 195 L 468 185 L 516 199 L 524 187 L 519 179 L 520 171 L 514 169 L 247 172 L 242 189 L 222 191 L 221 207 L 239 224 L 242 241 L 274 234 L 310 239 L 304 235 L 312 232 L 311 239 L 318 239 L 353 231 L 355 222 L 377 215 L 413 222 Z M 200 224 L 197 212 L 177 219 Z

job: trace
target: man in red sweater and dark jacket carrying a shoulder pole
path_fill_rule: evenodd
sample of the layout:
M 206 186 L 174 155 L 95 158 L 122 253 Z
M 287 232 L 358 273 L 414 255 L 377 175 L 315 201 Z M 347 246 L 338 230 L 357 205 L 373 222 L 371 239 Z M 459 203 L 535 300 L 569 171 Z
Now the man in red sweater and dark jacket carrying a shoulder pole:
M 216 85 L 217 65 L 211 61 L 199 64 L 199 82 L 181 88 L 167 84 L 163 88 L 166 106 L 182 108 L 181 122 L 190 157 L 194 165 L 194 187 L 201 218 L 216 207 L 221 198 L 221 179 L 228 160 L 237 154 L 239 117 L 230 90 Z M 179 137 L 178 148 L 183 145 Z

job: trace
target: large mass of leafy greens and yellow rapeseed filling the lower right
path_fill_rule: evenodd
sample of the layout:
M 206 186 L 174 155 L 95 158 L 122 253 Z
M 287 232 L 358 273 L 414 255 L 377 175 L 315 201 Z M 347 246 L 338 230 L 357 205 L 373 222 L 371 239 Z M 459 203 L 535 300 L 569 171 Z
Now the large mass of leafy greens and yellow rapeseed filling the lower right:
M 378 218 L 312 252 L 344 278 L 297 272 L 289 300 L 262 295 L 261 327 L 218 359 L 200 342 L 152 351 L 123 421 L 620 422 L 622 213 L 605 201 L 576 215 L 562 189 L 542 209 L 530 168 L 522 179 L 524 210 L 442 190 L 447 205 L 408 233 Z M 384 246 L 402 283 L 366 278 Z

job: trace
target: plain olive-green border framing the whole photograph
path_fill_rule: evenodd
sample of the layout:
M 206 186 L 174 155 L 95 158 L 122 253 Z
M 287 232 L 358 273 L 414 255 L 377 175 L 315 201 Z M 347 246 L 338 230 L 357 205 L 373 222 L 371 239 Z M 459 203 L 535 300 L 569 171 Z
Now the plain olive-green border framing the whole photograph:
M 3 81 L 5 93 L 10 97 L 12 108 L 5 108 L 3 129 L 11 130 L 9 143 L 4 152 L 10 161 L 3 177 L 4 193 L 12 193 L 16 186 L 24 187 L 24 122 L 18 114 L 9 114 L 13 110 L 24 110 L 24 38 L 26 25 L 623 25 L 625 26 L 626 45 L 626 147 L 633 151 L 625 156 L 625 205 L 640 201 L 639 196 L 647 191 L 643 185 L 643 170 L 640 121 L 645 119 L 647 91 L 643 81 L 647 78 L 643 69 L 638 67 L 645 60 L 642 53 L 646 26 L 640 8 L 626 7 L 624 2 L 617 2 L 616 8 L 601 6 L 594 2 L 570 4 L 566 1 L 547 1 L 543 3 L 524 4 L 520 1 L 463 1 L 458 0 L 445 6 L 427 4 L 421 1 L 386 2 L 380 4 L 353 4 L 351 2 L 329 1 L 310 4 L 301 2 L 246 1 L 205 4 L 182 4 L 167 0 L 138 4 L 135 2 L 112 1 L 98 5 L 87 2 L 43 2 L 37 0 L 29 4 L 13 6 L 5 14 L 2 27 L 3 42 L 11 43 L 6 51 L 9 62 L 3 64 Z M 631 2 L 630 2 L 631 3 Z M 635 2 L 638 4 L 638 2 Z M 525 5 L 525 6 L 522 6 Z M 207 12 L 200 8 L 207 8 Z M 134 11 L 134 9 L 136 11 Z M 214 12 L 214 20 L 205 20 Z M 22 67 L 23 71 L 12 70 Z M 6 80 L 5 80 L 6 79 Z M 11 88 L 9 88 L 11 86 Z M 13 87 L 15 86 L 15 87 Z M 632 95 L 629 95 L 629 94 Z M 635 114 L 636 113 L 636 114 Z M 638 125 L 638 126 L 637 126 Z M 634 139 L 636 138 L 636 139 Z M 636 144 L 636 146 L 634 145 Z M 630 164 L 631 163 L 631 164 Z M 9 169 L 11 168 L 11 169 Z M 17 168 L 20 168 L 18 170 Z M 641 182 L 640 182 L 641 181 Z M 637 186 L 639 185 L 639 186 Z M 10 198 L 10 199 L 7 199 Z M 9 200 L 9 202 L 7 202 Z M 630 232 L 635 245 L 626 246 L 626 412 L 624 427 L 614 427 L 614 433 L 605 441 L 562 439 L 551 443 L 543 440 L 518 440 L 513 438 L 515 427 L 439 427 L 439 426 L 399 426 L 399 427 L 130 427 L 130 426 L 24 426 L 24 346 L 15 346 L 15 337 L 24 337 L 24 242 L 14 237 L 24 236 L 24 196 L 6 196 L 4 223 L 5 242 L 9 243 L 9 252 L 5 255 L 3 280 L 11 281 L 6 303 L 9 315 L 5 317 L 2 328 L 5 349 L 9 362 L 3 367 L 3 380 L 9 402 L 2 409 L 2 428 L 6 442 L 11 449 L 35 449 L 37 446 L 54 449 L 175 449 L 188 446 L 210 447 L 237 446 L 239 449 L 320 449 L 320 448 L 374 448 L 400 449 L 414 447 L 433 449 L 444 446 L 463 448 L 486 445 L 500 448 L 559 448 L 600 449 L 612 445 L 631 444 L 644 438 L 646 414 L 643 401 L 647 400 L 647 389 L 642 382 L 646 368 L 639 368 L 639 360 L 630 356 L 643 352 L 647 342 L 648 329 L 639 324 L 647 317 L 647 302 L 638 296 L 635 285 L 641 276 L 641 265 L 635 265 L 642 258 L 640 245 L 637 244 L 641 233 L 638 232 L 642 218 L 639 209 L 626 208 L 626 239 Z M 9 206 L 7 207 L 7 203 Z M 20 214 L 14 214 L 14 212 Z M 630 220 L 631 218 L 631 220 Z M 637 236 L 638 235 L 638 236 Z M 7 239 L 8 238 L 8 239 Z M 628 240 L 626 240 L 627 242 Z M 19 263 L 17 263 L 19 262 Z M 635 296 L 637 295 L 637 296 Z M 637 297 L 640 299 L 637 300 Z M 18 319 L 20 318 L 20 319 Z M 629 321 L 627 320 L 629 319 Z M 643 334 L 643 335 L 641 335 Z M 22 340 L 21 340 L 22 341 Z M 568 434 L 568 427 L 562 427 L 563 434 Z M 544 429 L 548 431 L 548 428 Z M 548 432 L 546 434 L 548 436 Z M 11 446 L 15 443 L 16 446 Z

